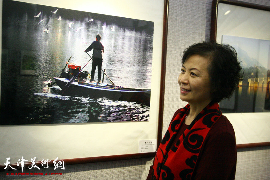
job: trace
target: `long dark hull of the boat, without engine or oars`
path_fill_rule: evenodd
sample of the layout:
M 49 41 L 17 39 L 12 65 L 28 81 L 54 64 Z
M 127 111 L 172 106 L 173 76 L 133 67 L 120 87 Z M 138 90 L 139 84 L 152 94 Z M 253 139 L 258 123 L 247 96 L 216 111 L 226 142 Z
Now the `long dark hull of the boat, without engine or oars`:
M 63 89 L 69 79 L 54 78 L 56 84 Z M 117 85 L 108 85 L 99 82 L 73 82 L 65 91 L 66 95 L 79 95 L 89 98 L 108 98 L 110 100 L 120 100 L 138 102 L 150 106 L 150 89 L 125 88 Z

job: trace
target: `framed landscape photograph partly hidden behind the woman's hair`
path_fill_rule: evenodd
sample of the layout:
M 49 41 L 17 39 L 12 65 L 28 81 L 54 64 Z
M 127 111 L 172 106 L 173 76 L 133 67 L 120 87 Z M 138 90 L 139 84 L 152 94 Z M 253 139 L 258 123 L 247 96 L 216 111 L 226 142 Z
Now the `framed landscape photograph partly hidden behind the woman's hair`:
M 238 148 L 270 145 L 270 7 L 215 0 L 211 40 L 235 48 L 243 81 L 220 109 L 232 123 Z

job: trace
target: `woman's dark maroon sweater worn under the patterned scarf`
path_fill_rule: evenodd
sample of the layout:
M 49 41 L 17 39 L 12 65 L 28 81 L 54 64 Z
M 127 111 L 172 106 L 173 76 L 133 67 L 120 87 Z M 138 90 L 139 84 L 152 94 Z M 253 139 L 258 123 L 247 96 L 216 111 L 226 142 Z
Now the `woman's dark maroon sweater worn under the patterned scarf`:
M 172 120 L 178 113 L 179 110 L 176 111 Z M 187 127 L 188 125 L 184 123 L 181 125 L 172 146 L 176 143 Z M 152 167 L 153 166 L 150 167 L 147 180 L 151 179 Z M 221 116 L 213 125 L 205 139 L 192 179 L 233 180 L 235 179 L 235 170 L 235 133 L 229 120 L 225 116 Z

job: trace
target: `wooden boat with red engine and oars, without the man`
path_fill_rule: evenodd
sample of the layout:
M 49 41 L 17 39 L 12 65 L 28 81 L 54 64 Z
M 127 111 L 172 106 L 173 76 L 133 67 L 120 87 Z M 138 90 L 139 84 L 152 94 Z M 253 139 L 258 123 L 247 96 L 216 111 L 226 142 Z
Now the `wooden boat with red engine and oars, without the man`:
M 88 54 L 88 53 L 87 53 Z M 89 54 L 88 54 L 89 55 Z M 92 57 L 89 55 L 92 59 Z M 71 58 L 71 56 L 70 56 Z M 120 101 L 129 101 L 129 102 L 138 102 L 146 106 L 150 106 L 150 95 L 151 89 L 140 89 L 140 88 L 127 88 L 119 85 L 115 85 L 109 76 L 105 73 L 105 69 L 101 70 L 103 72 L 102 82 L 90 82 L 87 77 L 90 75 L 87 71 L 82 69 L 88 64 L 89 60 L 84 67 L 81 67 L 77 64 L 69 63 L 68 72 L 65 72 L 64 69 L 60 74 L 60 77 L 54 77 L 55 82 L 62 90 L 61 94 L 64 95 L 79 95 L 82 97 L 89 98 L 107 98 L 110 100 L 120 100 Z M 103 83 L 104 75 L 110 80 L 112 84 Z M 44 83 L 52 86 L 50 80 L 45 81 Z

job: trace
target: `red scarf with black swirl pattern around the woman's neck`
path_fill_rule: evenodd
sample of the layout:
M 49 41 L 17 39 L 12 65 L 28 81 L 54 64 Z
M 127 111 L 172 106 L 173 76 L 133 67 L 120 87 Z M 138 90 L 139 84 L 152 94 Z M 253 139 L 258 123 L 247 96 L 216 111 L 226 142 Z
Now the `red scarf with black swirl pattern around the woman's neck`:
M 155 156 L 151 179 L 189 180 L 192 177 L 205 137 L 222 113 L 217 103 L 210 103 L 173 145 L 189 110 L 187 104 L 171 122 Z

